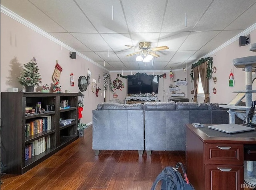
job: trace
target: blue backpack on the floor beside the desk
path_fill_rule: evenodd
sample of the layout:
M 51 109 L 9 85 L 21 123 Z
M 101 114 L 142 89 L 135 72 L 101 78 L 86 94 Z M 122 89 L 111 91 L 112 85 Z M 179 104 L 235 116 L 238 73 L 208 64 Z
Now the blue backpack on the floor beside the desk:
M 178 172 L 179 165 L 182 168 L 184 178 L 182 178 L 182 175 Z M 195 190 L 189 183 L 186 170 L 181 162 L 178 162 L 176 167 L 165 167 L 156 177 L 151 190 L 155 190 L 160 181 L 162 181 L 161 190 Z

